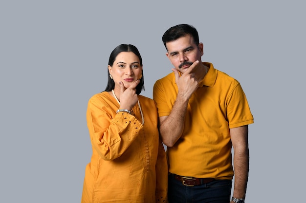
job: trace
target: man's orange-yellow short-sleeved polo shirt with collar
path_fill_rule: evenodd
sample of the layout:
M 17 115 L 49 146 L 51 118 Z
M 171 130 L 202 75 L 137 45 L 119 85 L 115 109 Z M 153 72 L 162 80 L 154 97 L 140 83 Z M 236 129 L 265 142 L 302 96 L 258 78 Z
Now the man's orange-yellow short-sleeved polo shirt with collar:
M 191 96 L 182 136 L 167 148 L 169 172 L 197 178 L 233 178 L 230 128 L 253 123 L 240 83 L 212 63 Z M 178 89 L 175 74 L 157 80 L 153 88 L 158 116 L 168 116 Z

